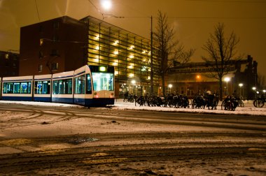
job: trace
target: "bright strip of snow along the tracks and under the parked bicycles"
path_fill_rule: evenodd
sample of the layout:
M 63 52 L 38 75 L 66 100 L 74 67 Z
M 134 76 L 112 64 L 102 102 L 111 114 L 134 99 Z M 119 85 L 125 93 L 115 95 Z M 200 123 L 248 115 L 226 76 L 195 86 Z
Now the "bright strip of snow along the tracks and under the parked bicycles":
M 43 105 L 53 107 L 75 107 L 83 108 L 80 105 L 71 105 L 64 103 L 44 103 L 44 102 L 31 102 L 31 101 L 0 101 L 0 103 L 19 103 L 25 105 Z M 114 105 L 110 105 L 115 110 L 153 110 L 165 112 L 193 112 L 193 113 L 212 113 L 212 114 L 239 114 L 239 115 L 261 115 L 266 116 L 266 105 L 262 108 L 255 108 L 253 101 L 244 101 L 245 107 L 237 107 L 235 111 L 221 110 L 221 101 L 218 104 L 217 110 L 208 109 L 193 109 L 191 108 L 165 108 L 165 107 L 148 107 L 139 106 L 139 104 L 123 102 L 123 99 L 116 99 Z

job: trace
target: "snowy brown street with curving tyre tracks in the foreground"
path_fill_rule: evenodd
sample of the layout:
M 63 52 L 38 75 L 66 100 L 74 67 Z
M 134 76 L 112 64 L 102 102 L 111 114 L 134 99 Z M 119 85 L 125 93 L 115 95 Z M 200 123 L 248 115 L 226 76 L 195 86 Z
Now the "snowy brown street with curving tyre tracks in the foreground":
M 266 175 L 266 118 L 1 103 L 1 175 Z

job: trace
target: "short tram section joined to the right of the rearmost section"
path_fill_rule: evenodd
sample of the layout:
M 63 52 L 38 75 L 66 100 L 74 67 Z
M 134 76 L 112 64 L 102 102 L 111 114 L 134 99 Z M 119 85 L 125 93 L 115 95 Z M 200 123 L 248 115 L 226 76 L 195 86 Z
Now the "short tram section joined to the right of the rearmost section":
M 33 101 L 51 102 L 52 75 L 34 76 L 34 99 Z

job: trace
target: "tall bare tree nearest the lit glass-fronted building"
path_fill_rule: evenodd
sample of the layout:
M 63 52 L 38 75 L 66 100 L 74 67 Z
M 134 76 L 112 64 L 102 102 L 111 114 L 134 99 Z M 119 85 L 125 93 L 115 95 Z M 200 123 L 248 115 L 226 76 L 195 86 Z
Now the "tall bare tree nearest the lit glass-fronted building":
M 158 44 L 160 68 L 154 72 L 162 78 L 162 94 L 165 94 L 165 75 L 170 66 L 174 61 L 179 61 L 181 64 L 188 62 L 195 52 L 194 49 L 186 51 L 179 41 L 174 41 L 174 35 L 174 27 L 169 26 L 167 15 L 159 10 L 154 39 L 155 43 Z

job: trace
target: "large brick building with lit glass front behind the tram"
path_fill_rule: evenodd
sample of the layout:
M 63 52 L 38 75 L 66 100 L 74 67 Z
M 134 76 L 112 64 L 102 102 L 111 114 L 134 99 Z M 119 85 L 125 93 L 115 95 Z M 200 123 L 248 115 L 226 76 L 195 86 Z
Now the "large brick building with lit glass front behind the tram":
M 150 91 L 151 42 L 94 17 L 59 17 L 20 29 L 20 75 L 71 71 L 85 64 L 115 67 L 116 96 Z M 160 62 L 153 50 L 153 67 Z M 158 89 L 159 78 L 153 76 Z

